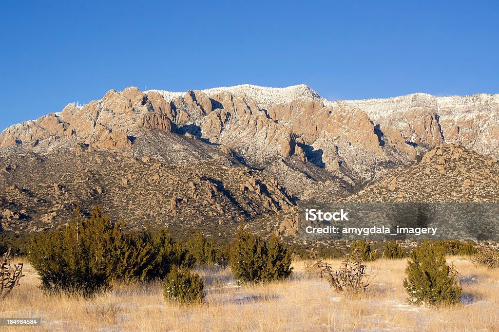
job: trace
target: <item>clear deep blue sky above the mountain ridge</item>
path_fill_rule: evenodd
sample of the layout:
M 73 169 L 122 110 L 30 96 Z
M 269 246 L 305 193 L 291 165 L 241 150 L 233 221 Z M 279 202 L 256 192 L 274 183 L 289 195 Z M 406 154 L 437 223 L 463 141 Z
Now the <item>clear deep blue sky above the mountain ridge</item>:
M 127 86 L 499 93 L 498 18 L 492 0 L 2 1 L 0 130 Z

